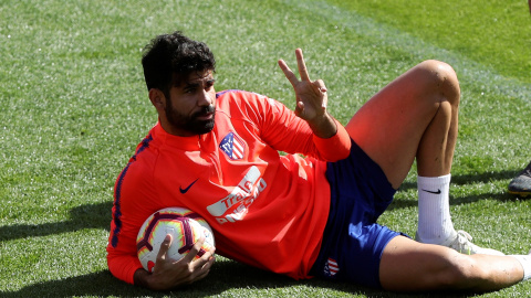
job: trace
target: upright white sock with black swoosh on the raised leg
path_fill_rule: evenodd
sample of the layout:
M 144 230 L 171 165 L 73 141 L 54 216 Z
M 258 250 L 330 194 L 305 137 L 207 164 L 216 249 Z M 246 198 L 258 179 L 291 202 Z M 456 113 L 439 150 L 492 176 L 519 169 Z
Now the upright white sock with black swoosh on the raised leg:
M 451 174 L 417 177 L 417 238 L 423 243 L 442 244 L 456 233 L 450 217 L 450 178 Z

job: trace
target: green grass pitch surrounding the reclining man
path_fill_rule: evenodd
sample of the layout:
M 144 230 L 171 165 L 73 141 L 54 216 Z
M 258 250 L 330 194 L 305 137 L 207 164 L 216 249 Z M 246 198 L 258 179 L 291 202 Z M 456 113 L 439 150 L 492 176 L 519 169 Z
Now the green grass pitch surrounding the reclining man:
M 531 159 L 531 17 L 527 1 L 173 0 L 0 2 L 1 297 L 445 297 L 294 281 L 218 257 L 209 277 L 154 292 L 111 276 L 114 181 L 156 121 L 139 64 L 156 34 L 183 30 L 217 56 L 217 89 L 292 107 L 277 66 L 302 47 L 343 124 L 426 58 L 461 84 L 450 189 L 455 225 L 479 245 L 531 247 L 531 200 L 507 184 Z M 414 235 L 412 171 L 381 223 Z M 464 295 L 468 297 L 473 295 Z M 531 281 L 475 297 L 530 297 Z

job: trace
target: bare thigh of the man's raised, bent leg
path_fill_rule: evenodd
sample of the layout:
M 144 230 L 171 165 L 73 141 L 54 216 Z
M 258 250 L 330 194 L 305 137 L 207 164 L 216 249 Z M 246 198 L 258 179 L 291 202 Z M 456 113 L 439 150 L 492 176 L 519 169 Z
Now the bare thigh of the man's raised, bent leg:
M 346 125 L 351 138 L 382 167 L 394 188 L 410 170 L 424 132 L 445 102 L 441 85 L 448 82 L 457 84 L 449 65 L 423 62 L 378 92 Z

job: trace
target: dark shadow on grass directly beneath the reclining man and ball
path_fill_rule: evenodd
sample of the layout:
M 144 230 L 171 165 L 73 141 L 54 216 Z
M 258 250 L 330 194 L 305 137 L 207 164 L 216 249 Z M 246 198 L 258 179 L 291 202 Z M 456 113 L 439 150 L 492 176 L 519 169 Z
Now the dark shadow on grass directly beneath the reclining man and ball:
M 306 288 L 300 288 L 304 286 Z M 320 291 L 322 288 L 325 291 Z M 315 290 L 315 291 L 313 291 Z M 326 291 L 331 290 L 331 291 Z M 312 292 L 313 291 L 313 292 Z M 448 297 L 447 294 L 405 295 L 376 290 L 347 283 L 320 279 L 293 280 L 237 262 L 216 263 L 209 276 L 191 286 L 175 291 L 157 292 L 122 283 L 108 270 L 27 286 L 18 291 L 1 292 L 1 297 L 299 297 L 344 296 L 345 292 L 364 297 Z M 451 297 L 468 297 L 451 294 Z

